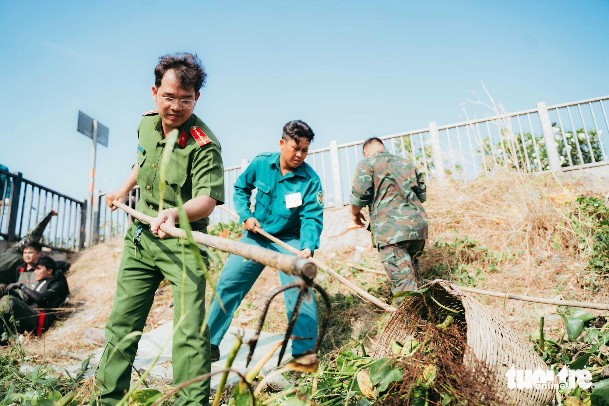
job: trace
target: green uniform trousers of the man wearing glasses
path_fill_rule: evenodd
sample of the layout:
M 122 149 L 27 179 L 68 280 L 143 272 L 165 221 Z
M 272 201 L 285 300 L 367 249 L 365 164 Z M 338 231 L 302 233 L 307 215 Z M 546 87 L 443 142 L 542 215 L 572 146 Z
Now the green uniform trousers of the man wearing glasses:
M 143 228 L 136 252 L 133 236 L 140 225 Z M 200 231 L 206 232 L 205 229 Z M 125 235 L 114 304 L 105 328 L 106 340 L 114 345 L 128 333 L 142 331 L 158 285 L 164 277 L 169 279 L 174 292 L 174 328 L 182 315 L 182 293 L 186 315 L 173 337 L 174 386 L 211 371 L 209 328 L 206 327 L 203 335 L 200 335 L 205 317 L 205 276 L 197 266 L 188 243 L 185 248 L 186 283 L 182 292 L 183 263 L 180 240 L 174 237 L 161 240 L 150 232 L 150 227 L 146 224 L 139 221 L 133 223 Z M 208 260 L 203 253 L 202 255 L 207 265 Z M 131 337 L 119 346 L 132 362 L 138 349 L 139 338 L 139 335 Z M 112 350 L 113 346 L 108 345 L 97 373 L 97 379 L 104 383 L 99 385 L 103 389 L 102 404 L 108 405 L 116 405 L 124 396 L 125 391 L 129 389 L 132 372 L 131 366 L 119 352 L 115 352 L 114 356 L 108 359 Z M 180 395 L 186 397 L 188 406 L 208 405 L 209 379 L 186 386 L 180 390 Z

